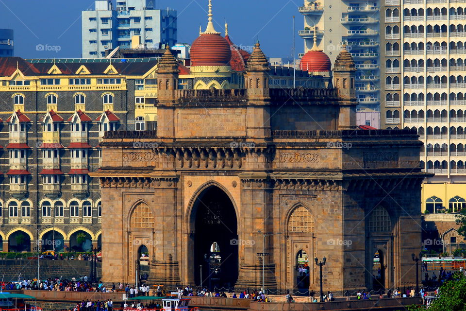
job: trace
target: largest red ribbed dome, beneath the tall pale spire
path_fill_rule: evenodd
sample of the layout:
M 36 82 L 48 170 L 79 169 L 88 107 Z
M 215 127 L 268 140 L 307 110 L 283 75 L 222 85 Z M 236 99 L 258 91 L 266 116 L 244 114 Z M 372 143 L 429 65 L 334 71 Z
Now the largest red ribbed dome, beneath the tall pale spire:
M 203 34 L 191 46 L 191 66 L 228 66 L 230 44 L 221 35 Z

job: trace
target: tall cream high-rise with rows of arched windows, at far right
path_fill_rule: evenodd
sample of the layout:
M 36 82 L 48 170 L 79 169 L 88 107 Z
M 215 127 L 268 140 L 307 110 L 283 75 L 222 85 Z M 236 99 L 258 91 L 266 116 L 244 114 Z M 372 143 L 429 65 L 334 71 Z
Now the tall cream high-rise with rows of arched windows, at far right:
M 382 128 L 416 129 L 424 142 L 421 163 L 435 176 L 423 184 L 421 208 L 446 244 L 463 240 L 455 213 L 466 207 L 465 6 L 383 0 L 381 8 Z

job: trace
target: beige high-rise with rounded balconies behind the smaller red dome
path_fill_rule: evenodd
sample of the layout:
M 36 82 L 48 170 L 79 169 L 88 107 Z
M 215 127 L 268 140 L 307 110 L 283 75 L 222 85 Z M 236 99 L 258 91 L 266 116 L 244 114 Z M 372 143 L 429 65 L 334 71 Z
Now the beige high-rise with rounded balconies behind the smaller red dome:
M 358 124 L 380 127 L 380 3 L 378 0 L 305 0 L 299 8 L 304 16 L 304 53 L 313 47 L 333 63 L 343 45 L 354 59 Z M 302 56 L 302 55 L 300 55 Z

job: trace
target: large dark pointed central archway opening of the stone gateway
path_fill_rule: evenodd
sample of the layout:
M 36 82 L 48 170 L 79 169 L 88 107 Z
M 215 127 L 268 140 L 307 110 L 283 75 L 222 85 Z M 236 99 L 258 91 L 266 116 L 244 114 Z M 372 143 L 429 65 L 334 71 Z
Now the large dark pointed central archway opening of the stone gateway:
M 209 186 L 196 198 L 191 219 L 195 232 L 194 260 L 189 261 L 194 263 L 195 283 L 212 288 L 233 287 L 238 278 L 240 242 L 232 200 L 224 190 Z M 214 242 L 216 249 L 212 251 Z

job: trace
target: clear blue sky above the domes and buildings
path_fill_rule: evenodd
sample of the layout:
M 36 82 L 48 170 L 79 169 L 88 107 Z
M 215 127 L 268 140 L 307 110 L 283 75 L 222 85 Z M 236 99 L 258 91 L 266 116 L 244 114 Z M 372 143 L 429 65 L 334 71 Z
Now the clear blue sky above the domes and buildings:
M 115 2 L 115 1 L 114 1 Z M 178 11 L 178 41 L 191 43 L 199 25 L 207 23 L 207 0 L 154 0 L 156 8 Z M 217 31 L 237 45 L 251 46 L 258 37 L 270 57 L 291 57 L 292 16 L 296 16 L 296 54 L 303 52 L 297 35 L 303 27 L 300 0 L 213 0 Z M 94 8 L 94 0 L 0 0 L 0 28 L 15 31 L 15 56 L 23 58 L 81 57 L 81 11 Z M 36 45 L 56 46 L 59 51 L 36 51 Z

